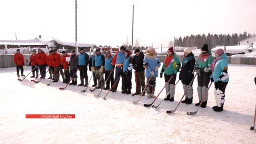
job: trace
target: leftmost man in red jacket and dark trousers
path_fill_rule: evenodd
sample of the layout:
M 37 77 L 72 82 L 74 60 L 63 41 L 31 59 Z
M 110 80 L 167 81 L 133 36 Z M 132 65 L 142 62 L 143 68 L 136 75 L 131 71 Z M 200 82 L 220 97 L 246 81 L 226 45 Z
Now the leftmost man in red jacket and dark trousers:
M 23 66 L 25 65 L 24 63 L 24 57 L 22 54 L 20 54 L 20 49 L 17 49 L 16 54 L 14 54 L 13 56 L 13 62 L 16 65 L 16 70 L 17 70 L 17 76 L 20 76 L 20 72 L 21 72 L 21 76 L 25 76 L 23 74 Z

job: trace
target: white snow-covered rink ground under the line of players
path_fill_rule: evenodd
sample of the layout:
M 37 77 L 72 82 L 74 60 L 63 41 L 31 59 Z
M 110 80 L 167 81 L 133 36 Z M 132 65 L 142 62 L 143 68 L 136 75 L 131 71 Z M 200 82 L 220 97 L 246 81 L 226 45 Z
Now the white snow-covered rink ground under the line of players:
M 26 67 L 24 74 L 30 68 Z M 194 103 L 180 104 L 173 114 L 166 114 L 178 104 L 182 84 L 178 83 L 174 102 L 164 101 L 157 109 L 144 107 L 153 99 L 110 92 L 107 100 L 95 98 L 99 90 L 81 93 L 81 86 L 43 79 L 35 84 L 27 77 L 18 81 L 15 68 L 0 69 L 0 143 L 1 144 L 80 144 L 80 143 L 172 143 L 172 144 L 255 144 L 253 125 L 256 102 L 254 77 L 256 66 L 229 65 L 230 82 L 226 88 L 223 112 L 214 112 L 214 86 L 210 88 L 206 108 L 194 116 L 186 115 L 198 107 L 194 82 Z M 91 73 L 88 74 L 91 76 Z M 49 74 L 47 74 L 47 77 Z M 135 92 L 135 81 L 132 79 Z M 90 86 L 92 85 L 92 81 Z M 156 95 L 164 79 L 156 80 Z M 90 89 L 92 87 L 89 87 Z M 107 92 L 103 90 L 100 96 Z M 165 96 L 165 90 L 154 104 Z M 26 119 L 25 114 L 75 114 L 75 119 Z

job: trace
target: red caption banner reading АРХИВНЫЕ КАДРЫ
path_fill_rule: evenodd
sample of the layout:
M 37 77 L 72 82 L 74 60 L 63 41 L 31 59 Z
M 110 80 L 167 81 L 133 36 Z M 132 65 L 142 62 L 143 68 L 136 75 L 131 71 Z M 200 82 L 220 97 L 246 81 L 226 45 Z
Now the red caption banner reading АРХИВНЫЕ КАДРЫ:
M 26 118 L 75 118 L 74 114 L 26 114 Z

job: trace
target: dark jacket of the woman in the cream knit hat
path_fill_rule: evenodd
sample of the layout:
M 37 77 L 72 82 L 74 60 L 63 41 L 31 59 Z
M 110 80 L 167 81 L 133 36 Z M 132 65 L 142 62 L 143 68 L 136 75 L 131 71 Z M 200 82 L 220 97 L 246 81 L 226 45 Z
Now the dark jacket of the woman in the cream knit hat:
M 179 79 L 181 79 L 182 84 L 189 85 L 191 80 L 194 78 L 194 67 L 196 60 L 194 54 L 191 52 L 188 56 L 185 56 L 182 60 L 182 68 L 180 70 Z

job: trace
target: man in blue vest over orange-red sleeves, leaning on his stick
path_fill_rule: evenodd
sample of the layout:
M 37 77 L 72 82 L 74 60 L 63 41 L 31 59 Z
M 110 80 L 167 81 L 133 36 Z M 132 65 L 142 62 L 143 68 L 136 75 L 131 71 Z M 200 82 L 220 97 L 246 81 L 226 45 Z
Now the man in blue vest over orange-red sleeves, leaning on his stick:
M 116 82 L 112 92 L 116 92 L 116 89 L 118 87 L 118 83 L 119 83 L 119 80 L 118 78 L 120 77 L 121 75 L 121 70 L 122 70 L 122 67 L 123 67 L 123 60 L 124 60 L 124 51 L 126 50 L 126 48 L 124 46 L 121 46 L 120 47 L 120 51 L 116 52 L 113 60 L 112 60 L 112 68 L 116 68 L 116 73 L 115 73 L 115 79 L 114 79 L 114 82 Z M 122 91 L 124 91 L 124 83 L 122 83 Z

